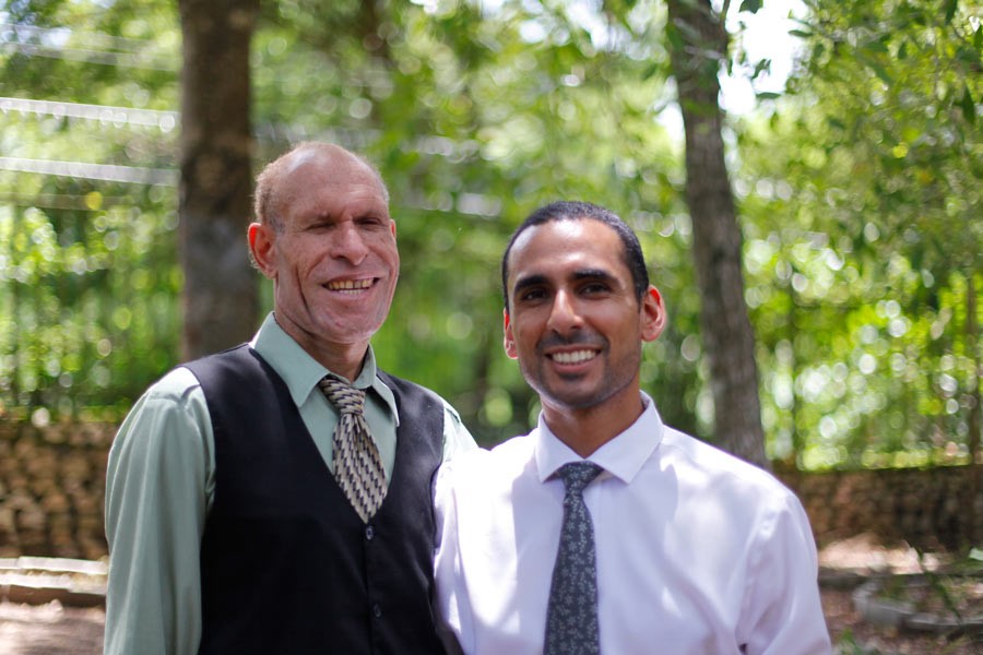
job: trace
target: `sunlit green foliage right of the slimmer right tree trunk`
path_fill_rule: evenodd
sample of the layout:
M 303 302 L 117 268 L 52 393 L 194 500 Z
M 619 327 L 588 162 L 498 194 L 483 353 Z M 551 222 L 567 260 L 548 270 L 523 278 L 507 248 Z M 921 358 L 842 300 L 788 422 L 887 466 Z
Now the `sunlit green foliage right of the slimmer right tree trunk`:
M 983 91 L 980 48 L 958 9 L 809 8 L 795 95 L 742 141 L 766 425 L 807 467 L 964 462 L 983 134 L 963 98 Z

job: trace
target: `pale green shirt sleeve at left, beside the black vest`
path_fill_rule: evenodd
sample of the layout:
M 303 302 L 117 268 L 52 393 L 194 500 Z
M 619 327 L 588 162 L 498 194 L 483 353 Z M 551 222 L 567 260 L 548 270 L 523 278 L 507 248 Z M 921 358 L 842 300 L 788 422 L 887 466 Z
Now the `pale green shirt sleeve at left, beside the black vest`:
M 109 452 L 106 655 L 198 652 L 199 548 L 213 472 L 204 394 L 190 371 L 176 369 L 138 401 Z

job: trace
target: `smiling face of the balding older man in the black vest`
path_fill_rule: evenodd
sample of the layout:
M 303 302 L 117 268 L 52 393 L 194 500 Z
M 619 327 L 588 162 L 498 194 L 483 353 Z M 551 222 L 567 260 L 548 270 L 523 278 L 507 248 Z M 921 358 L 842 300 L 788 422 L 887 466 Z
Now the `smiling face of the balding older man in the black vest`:
M 301 345 L 367 343 L 400 272 L 395 223 L 376 172 L 347 153 L 297 156 L 263 226 L 277 322 Z

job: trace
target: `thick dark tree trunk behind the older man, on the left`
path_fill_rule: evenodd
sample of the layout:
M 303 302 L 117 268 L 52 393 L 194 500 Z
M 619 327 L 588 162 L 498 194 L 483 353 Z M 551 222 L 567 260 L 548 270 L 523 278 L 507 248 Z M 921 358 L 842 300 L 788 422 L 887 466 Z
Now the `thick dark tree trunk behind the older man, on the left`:
M 249 44 L 259 0 L 180 0 L 183 34 L 181 356 L 248 341 L 259 313 L 246 247 L 252 194 Z

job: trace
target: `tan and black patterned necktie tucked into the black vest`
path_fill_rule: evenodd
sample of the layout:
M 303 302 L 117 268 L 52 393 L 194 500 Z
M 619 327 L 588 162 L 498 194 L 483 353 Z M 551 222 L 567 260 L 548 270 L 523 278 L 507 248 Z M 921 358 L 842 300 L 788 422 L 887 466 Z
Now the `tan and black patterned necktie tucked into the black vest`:
M 334 478 L 362 520 L 369 519 L 386 498 L 386 469 L 365 420 L 365 392 L 324 377 L 318 386 L 340 413 L 334 427 Z

